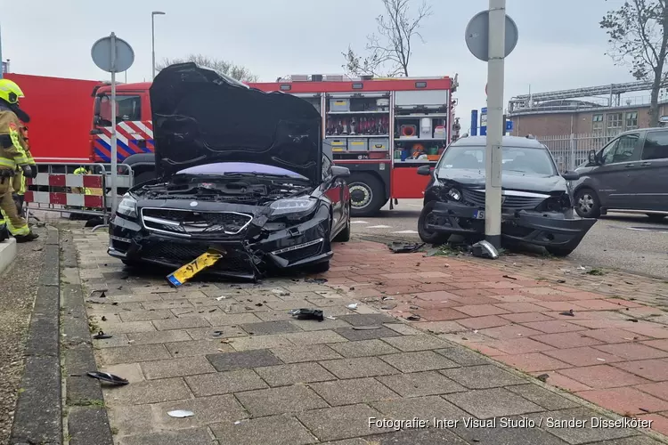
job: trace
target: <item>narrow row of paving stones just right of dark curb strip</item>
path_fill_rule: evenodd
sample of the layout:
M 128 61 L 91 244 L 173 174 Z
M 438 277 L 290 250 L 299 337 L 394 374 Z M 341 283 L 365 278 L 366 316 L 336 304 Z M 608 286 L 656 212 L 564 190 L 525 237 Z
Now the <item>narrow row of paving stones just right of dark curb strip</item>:
M 62 237 L 63 276 L 78 276 L 77 249 L 69 233 Z M 77 273 L 66 273 L 74 269 Z M 86 373 L 97 370 L 81 282 L 61 283 L 65 413 L 70 445 L 113 445 L 100 382 Z M 101 406 L 102 405 L 102 406 Z

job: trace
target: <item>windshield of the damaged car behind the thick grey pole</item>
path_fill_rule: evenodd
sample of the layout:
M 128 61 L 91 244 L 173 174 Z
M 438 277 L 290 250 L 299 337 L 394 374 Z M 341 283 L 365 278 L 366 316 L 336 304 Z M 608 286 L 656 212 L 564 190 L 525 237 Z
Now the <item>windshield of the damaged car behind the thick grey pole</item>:
M 503 171 L 552 176 L 557 169 L 548 150 L 526 147 L 503 147 Z M 450 146 L 438 161 L 436 169 L 485 170 L 485 147 Z

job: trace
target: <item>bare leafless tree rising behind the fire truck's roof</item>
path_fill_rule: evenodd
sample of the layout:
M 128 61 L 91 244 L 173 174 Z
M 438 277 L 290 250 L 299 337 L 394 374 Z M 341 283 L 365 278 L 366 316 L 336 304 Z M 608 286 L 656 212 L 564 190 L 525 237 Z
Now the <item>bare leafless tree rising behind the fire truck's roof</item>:
M 366 51 L 361 56 L 348 46 L 343 68 L 354 75 L 383 77 L 408 77 L 415 38 L 424 43 L 420 35 L 422 20 L 432 14 L 431 6 L 423 0 L 417 12 L 412 15 L 410 0 L 382 0 L 385 14 L 376 18 L 378 34 L 367 36 Z

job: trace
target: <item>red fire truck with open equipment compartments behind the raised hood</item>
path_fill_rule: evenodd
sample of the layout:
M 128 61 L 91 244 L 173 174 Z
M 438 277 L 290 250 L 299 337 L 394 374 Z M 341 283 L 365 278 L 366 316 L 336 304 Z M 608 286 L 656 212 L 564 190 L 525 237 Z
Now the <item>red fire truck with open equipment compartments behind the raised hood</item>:
M 132 166 L 136 182 L 154 175 L 151 84 L 117 88 L 118 162 Z M 390 201 L 422 198 L 428 182 L 419 166 L 435 164 L 458 137 L 452 93 L 457 77 L 351 78 L 292 76 L 250 84 L 310 101 L 322 114 L 324 149 L 351 170 L 356 216 L 378 213 Z M 94 88 L 92 160 L 110 162 L 110 86 Z

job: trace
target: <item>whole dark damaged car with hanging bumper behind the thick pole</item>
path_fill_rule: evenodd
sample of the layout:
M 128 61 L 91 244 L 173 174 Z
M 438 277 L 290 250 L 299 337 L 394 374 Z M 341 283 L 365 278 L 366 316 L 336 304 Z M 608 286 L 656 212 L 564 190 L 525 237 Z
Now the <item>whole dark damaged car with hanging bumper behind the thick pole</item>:
M 451 235 L 469 241 L 485 235 L 485 136 L 452 142 L 432 170 L 420 214 L 420 238 L 433 244 Z M 504 136 L 501 174 L 501 242 L 542 246 L 566 256 L 596 223 L 574 212 L 567 181 L 577 174 L 558 174 L 550 151 L 533 138 Z

